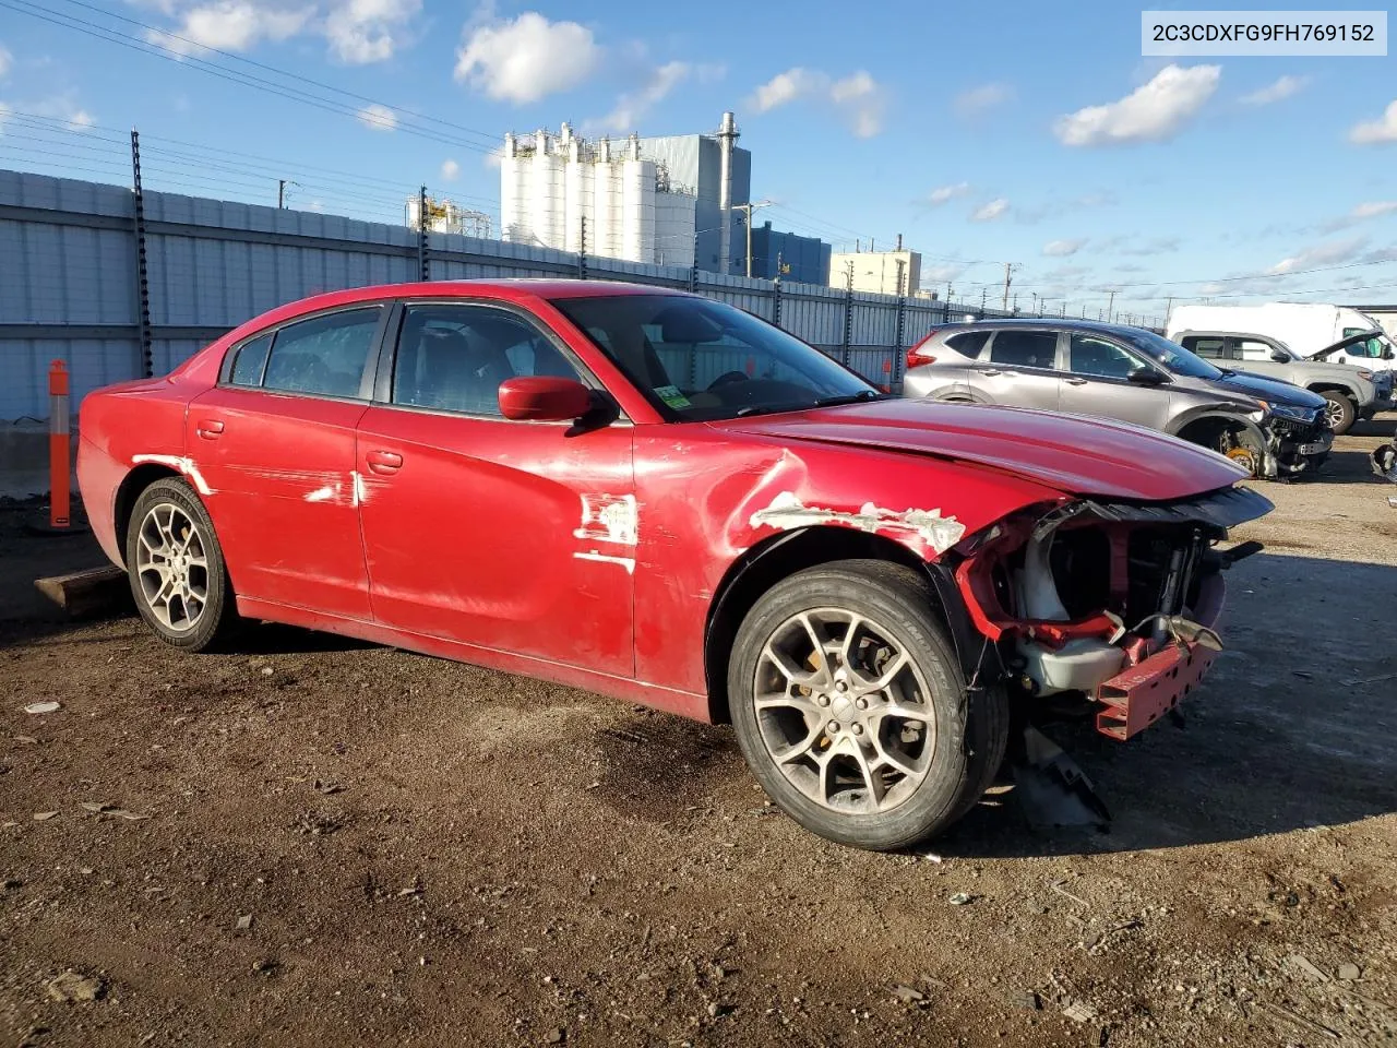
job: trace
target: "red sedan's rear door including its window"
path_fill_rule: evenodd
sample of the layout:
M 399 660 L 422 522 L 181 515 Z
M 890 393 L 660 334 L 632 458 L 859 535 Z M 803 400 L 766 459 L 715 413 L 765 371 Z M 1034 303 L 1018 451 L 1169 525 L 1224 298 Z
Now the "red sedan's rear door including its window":
M 186 456 L 239 597 L 369 619 L 355 426 L 387 313 L 370 303 L 261 333 L 190 404 Z

